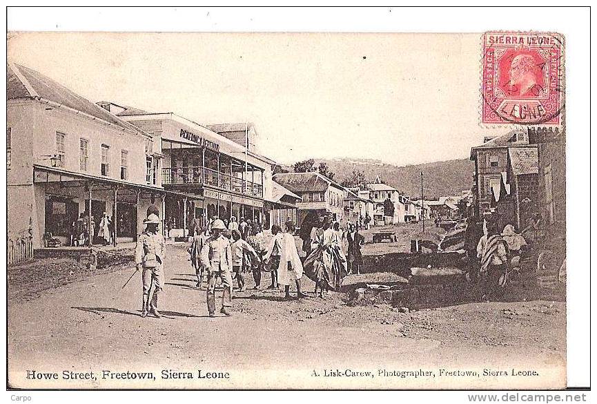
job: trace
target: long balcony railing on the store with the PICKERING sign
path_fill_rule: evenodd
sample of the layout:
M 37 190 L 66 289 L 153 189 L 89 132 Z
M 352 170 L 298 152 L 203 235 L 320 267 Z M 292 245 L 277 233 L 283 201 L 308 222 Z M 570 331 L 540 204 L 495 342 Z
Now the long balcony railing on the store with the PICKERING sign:
M 196 184 L 263 198 L 263 186 L 204 167 L 162 169 L 162 185 Z

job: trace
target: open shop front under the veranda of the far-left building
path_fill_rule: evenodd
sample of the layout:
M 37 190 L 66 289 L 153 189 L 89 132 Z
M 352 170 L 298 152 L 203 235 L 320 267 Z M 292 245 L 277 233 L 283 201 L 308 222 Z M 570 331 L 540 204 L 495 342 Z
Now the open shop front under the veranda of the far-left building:
M 108 178 L 71 173 L 48 166 L 34 166 L 32 223 L 35 247 L 75 246 L 75 222 L 91 224 L 93 237 L 85 245 L 106 244 L 98 236 L 101 218 L 110 220 L 109 243 L 137 240 L 144 229 L 149 206 L 154 206 L 164 220 L 166 200 L 193 200 L 193 195 L 166 191 L 153 186 L 131 184 Z M 166 223 L 162 229 L 166 229 Z M 90 240 L 89 240 L 90 239 Z M 48 243 L 48 240 L 53 240 Z M 79 245 L 79 247 L 81 247 Z

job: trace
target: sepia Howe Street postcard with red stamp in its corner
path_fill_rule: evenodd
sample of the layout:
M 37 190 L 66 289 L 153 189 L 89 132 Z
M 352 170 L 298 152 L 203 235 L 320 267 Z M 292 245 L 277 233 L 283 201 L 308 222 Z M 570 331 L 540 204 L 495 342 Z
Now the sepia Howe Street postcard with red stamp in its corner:
M 9 388 L 567 386 L 561 33 L 7 44 Z

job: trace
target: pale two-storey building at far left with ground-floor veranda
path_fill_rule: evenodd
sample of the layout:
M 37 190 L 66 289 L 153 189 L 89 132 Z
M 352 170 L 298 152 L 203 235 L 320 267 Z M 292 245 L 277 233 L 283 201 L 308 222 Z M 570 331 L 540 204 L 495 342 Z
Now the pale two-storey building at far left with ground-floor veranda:
M 162 156 L 148 133 L 30 68 L 9 64 L 7 79 L 9 235 L 31 224 L 35 248 L 45 233 L 69 245 L 81 213 L 97 235 L 106 212 L 115 242 L 127 241 L 150 204 L 163 218 Z

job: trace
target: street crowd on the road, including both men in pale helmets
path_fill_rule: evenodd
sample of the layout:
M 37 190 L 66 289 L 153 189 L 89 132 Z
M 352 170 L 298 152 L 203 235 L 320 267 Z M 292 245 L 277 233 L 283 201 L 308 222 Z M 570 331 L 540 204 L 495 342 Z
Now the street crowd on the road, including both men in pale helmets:
M 135 248 L 137 270 L 142 271 L 143 300 L 141 316 L 153 314 L 159 318 L 158 300 L 164 291 L 164 237 L 158 231 L 159 217 L 150 213 L 144 220 L 146 229 L 139 235 Z M 208 224 L 195 229 L 188 253 L 197 276 L 197 287 L 207 282 L 206 302 L 209 316 L 215 316 L 215 289 L 218 278 L 222 282 L 222 300 L 219 312 L 232 316 L 233 280 L 238 291 L 244 291 L 245 273 L 251 271 L 255 287 L 260 289 L 262 271 L 269 270 L 271 285 L 268 289 L 284 286 L 284 299 L 306 298 L 302 278 L 306 275 L 315 282 L 315 295 L 325 298 L 330 290 L 339 291 L 343 278 L 351 271 L 359 273 L 362 262 L 360 247 L 364 238 L 352 224 L 342 231 L 329 216 L 321 218 L 314 226 L 309 240 L 309 253 L 304 262 L 299 256 L 294 225 L 290 219 L 285 224 L 273 225 L 272 237 L 266 242 L 258 222 L 235 218 L 226 225 L 224 220 L 211 218 Z M 348 241 L 348 258 L 342 249 L 342 241 Z M 296 288 L 296 297 L 291 288 Z M 153 288 L 153 294 L 151 289 Z

